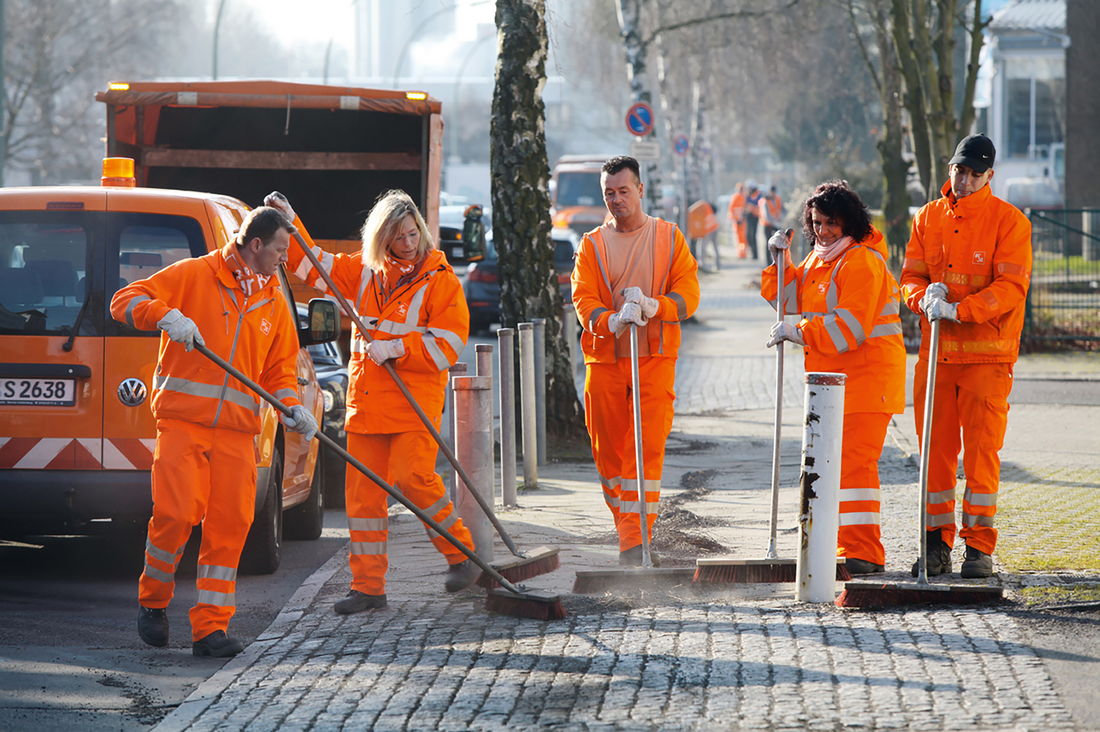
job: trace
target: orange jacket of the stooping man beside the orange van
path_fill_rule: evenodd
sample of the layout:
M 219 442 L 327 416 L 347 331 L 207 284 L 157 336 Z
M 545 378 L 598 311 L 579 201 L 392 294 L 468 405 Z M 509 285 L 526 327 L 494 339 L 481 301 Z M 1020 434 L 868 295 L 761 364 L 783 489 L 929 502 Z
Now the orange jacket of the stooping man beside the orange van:
M 226 263 L 235 244 L 180 260 L 111 298 L 111 316 L 156 330 L 168 310 L 195 321 L 206 347 L 287 406 L 298 401 L 298 330 L 278 277 L 245 297 Z M 260 397 L 198 351 L 161 334 L 153 374 L 153 416 L 207 427 L 260 433 Z

